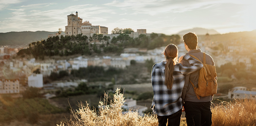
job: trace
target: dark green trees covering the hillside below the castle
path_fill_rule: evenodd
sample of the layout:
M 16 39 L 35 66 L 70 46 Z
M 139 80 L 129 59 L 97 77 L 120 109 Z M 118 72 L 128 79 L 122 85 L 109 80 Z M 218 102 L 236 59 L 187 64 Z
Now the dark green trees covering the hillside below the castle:
M 104 53 L 123 53 L 123 49 L 127 47 L 148 48 L 154 49 L 161 46 L 166 46 L 170 43 L 180 44 L 180 36 L 167 36 L 161 34 L 158 36 L 152 33 L 150 37 L 146 34 L 140 34 L 138 38 L 129 37 L 128 34 L 119 34 L 113 37 L 103 36 L 103 34 L 93 34 L 93 37 L 88 38 L 82 34 L 76 36 L 53 36 L 47 40 L 32 42 L 29 48 L 21 49 L 17 53 L 18 56 L 25 57 L 25 55 L 33 55 L 33 57 L 44 60 L 45 56 L 69 56 L 74 54 L 91 55 Z M 94 44 L 90 43 L 94 42 Z M 120 43 L 117 43 L 119 41 Z M 102 44 L 96 44 L 102 42 Z

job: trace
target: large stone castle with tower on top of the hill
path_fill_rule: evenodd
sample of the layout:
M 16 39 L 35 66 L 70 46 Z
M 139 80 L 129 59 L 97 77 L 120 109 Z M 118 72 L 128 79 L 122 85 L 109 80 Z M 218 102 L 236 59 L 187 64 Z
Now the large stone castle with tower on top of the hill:
M 108 34 L 108 28 L 99 25 L 91 25 L 89 21 L 84 21 L 80 17 L 78 17 L 78 12 L 76 15 L 71 13 L 68 15 L 68 25 L 65 26 L 65 35 L 76 35 L 76 34 L 83 34 L 88 37 L 93 36 L 94 33 L 96 34 Z

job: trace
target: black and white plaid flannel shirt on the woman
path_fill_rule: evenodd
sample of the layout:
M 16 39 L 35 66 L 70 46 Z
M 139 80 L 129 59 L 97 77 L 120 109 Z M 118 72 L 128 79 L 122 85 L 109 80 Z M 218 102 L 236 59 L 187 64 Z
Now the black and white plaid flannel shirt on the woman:
M 159 116 L 171 115 L 182 108 L 181 93 L 185 84 L 185 76 L 200 70 L 203 64 L 186 54 L 183 60 L 187 60 L 192 66 L 174 65 L 172 89 L 165 85 L 166 61 L 156 63 L 152 68 L 151 82 L 154 92 L 151 109 Z

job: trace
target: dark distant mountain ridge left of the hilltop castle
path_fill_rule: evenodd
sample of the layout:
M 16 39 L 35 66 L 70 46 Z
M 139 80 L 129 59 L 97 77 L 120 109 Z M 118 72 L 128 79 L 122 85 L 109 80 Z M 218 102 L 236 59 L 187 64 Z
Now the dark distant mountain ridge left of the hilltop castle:
M 0 33 L 0 45 L 26 45 L 30 42 L 41 41 L 48 38 L 48 34 L 54 34 L 57 32 L 47 31 L 24 31 L 24 32 L 7 32 Z M 65 34 L 62 32 L 61 34 Z

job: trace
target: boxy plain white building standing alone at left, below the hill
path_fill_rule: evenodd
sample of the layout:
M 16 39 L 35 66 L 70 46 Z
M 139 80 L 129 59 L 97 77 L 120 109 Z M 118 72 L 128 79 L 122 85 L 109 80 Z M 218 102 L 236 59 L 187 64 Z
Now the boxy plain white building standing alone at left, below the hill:
M 43 88 L 43 74 L 31 74 L 28 79 L 29 87 Z

